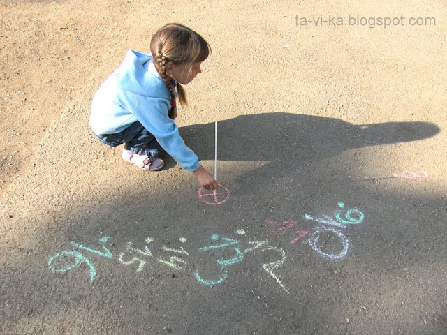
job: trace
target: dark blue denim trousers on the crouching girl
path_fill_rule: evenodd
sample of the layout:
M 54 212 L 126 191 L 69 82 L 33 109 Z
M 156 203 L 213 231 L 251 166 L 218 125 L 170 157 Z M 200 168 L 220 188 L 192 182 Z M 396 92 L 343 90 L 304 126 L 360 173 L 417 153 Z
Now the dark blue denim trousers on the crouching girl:
M 124 149 L 131 151 L 132 154 L 145 153 L 147 156 L 158 156 L 164 151 L 159 142 L 156 142 L 155 136 L 138 121 L 120 133 L 96 135 L 96 137 L 110 147 L 124 144 Z

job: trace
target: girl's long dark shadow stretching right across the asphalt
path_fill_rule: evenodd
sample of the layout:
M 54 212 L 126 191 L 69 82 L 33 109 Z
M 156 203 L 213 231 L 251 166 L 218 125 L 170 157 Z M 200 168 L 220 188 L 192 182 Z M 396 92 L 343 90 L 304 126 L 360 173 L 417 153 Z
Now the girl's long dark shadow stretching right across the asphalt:
M 214 123 L 180 128 L 199 160 L 214 160 Z M 283 112 L 242 115 L 218 122 L 219 161 L 305 163 L 349 149 L 409 142 L 439 133 L 427 122 L 355 125 L 328 117 Z M 286 164 L 288 165 L 288 164 Z

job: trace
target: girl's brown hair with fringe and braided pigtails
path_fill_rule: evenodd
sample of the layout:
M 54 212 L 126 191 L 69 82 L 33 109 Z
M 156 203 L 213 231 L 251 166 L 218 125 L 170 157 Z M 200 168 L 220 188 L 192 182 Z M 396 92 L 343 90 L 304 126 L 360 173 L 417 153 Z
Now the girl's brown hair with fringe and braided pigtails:
M 170 91 L 171 105 L 175 105 L 175 89 L 173 82 L 166 75 L 166 64 L 188 64 L 205 61 L 211 52 L 207 41 L 188 27 L 182 24 L 170 23 L 162 27 L 151 40 L 151 53 L 158 63 L 160 75 Z M 188 105 L 186 93 L 177 82 L 177 93 L 181 105 Z

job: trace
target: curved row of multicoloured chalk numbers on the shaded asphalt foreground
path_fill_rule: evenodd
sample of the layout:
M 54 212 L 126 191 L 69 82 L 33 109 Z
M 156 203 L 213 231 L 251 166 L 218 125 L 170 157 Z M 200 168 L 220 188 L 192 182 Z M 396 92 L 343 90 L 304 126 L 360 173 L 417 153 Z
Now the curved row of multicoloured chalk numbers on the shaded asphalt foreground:
M 210 193 L 211 195 L 212 193 Z M 229 192 L 228 192 L 229 194 Z M 215 199 L 215 198 L 214 198 Z M 272 235 L 283 234 L 286 231 L 293 233 L 291 240 L 289 241 L 290 245 L 295 245 L 300 239 L 303 239 L 308 234 L 309 236 L 309 246 L 313 251 L 316 251 L 318 255 L 321 255 L 325 258 L 329 258 L 331 260 L 338 260 L 340 258 L 344 258 L 349 251 L 350 241 L 348 237 L 340 230 L 346 228 L 346 225 L 358 225 L 362 223 L 365 219 L 365 215 L 359 209 L 345 209 L 344 203 L 339 202 L 339 209 L 333 212 L 335 218 L 330 216 L 323 216 L 323 218 L 315 218 L 309 214 L 305 214 L 305 219 L 307 221 L 315 221 L 317 223 L 316 228 L 313 232 L 310 230 L 302 230 L 300 227 L 300 223 L 295 221 L 284 221 L 281 223 L 281 226 L 275 227 L 277 223 L 274 221 L 268 220 L 267 223 L 270 227 L 273 228 Z M 244 229 L 240 228 L 235 230 L 235 233 L 240 237 L 246 236 L 246 232 Z M 342 243 L 342 251 L 339 253 L 330 253 L 329 251 L 323 250 L 321 245 L 322 236 L 328 238 L 330 234 L 335 234 L 335 237 L 339 239 Z M 89 269 L 89 278 L 90 282 L 93 283 L 97 276 L 97 271 L 94 263 L 91 261 L 89 256 L 101 257 L 101 259 L 111 259 L 113 258 L 112 253 L 109 248 L 105 246 L 110 237 L 105 236 L 99 239 L 100 244 L 102 244 L 102 248 L 90 248 L 84 246 L 79 243 L 75 243 L 71 241 L 71 246 L 75 248 L 75 251 L 61 251 L 56 253 L 48 260 L 48 267 L 51 271 L 55 273 L 65 273 L 75 267 L 78 267 L 80 264 L 87 265 Z M 288 288 L 286 285 L 282 283 L 280 276 L 275 273 L 279 266 L 284 265 L 286 261 L 286 252 L 283 248 L 278 246 L 268 246 L 268 241 L 248 241 L 247 248 L 242 248 L 241 242 L 237 239 L 231 239 L 228 237 L 219 237 L 218 234 L 212 234 L 210 239 L 212 240 L 212 244 L 203 246 L 201 248 L 196 249 L 198 253 L 203 251 L 208 251 L 210 254 L 214 255 L 214 251 L 218 251 L 219 249 L 229 248 L 231 255 L 226 258 L 217 258 L 215 259 L 215 265 L 217 265 L 217 269 L 219 269 L 219 273 L 213 275 L 208 275 L 210 278 L 203 278 L 203 274 L 200 272 L 200 265 L 196 266 L 194 272 L 194 276 L 196 280 L 205 285 L 205 286 L 213 286 L 219 283 L 222 283 L 228 277 L 228 268 L 231 265 L 235 265 L 236 263 L 242 262 L 244 260 L 244 255 L 253 252 L 268 252 L 273 251 L 279 254 L 279 258 L 272 262 L 266 262 L 261 264 L 261 267 L 278 283 L 278 285 L 288 292 Z M 154 258 L 155 262 L 159 262 L 168 267 L 172 267 L 177 270 L 185 270 L 185 266 L 187 261 L 184 259 L 186 256 L 189 256 L 189 252 L 186 251 L 186 248 L 183 246 L 166 246 L 163 244 L 161 248 L 159 248 L 159 253 L 163 253 L 163 255 L 154 255 L 151 250 L 149 250 L 149 244 L 154 241 L 152 237 L 147 237 L 145 239 L 145 245 L 142 247 L 135 247 L 133 242 L 129 241 L 126 244 L 126 248 L 124 251 L 119 253 L 119 262 L 122 265 L 137 265 L 136 271 L 141 272 L 146 268 L 149 261 Z M 187 239 L 186 237 L 179 237 L 178 241 L 185 245 Z M 151 244 L 152 245 L 152 244 Z M 244 250 L 244 251 L 241 251 Z M 87 253 L 84 255 L 83 253 Z M 166 253 L 170 253 L 170 255 L 166 255 Z M 219 255 L 216 253 L 215 255 Z M 214 256 L 213 256 L 214 257 Z M 217 256 L 218 257 L 218 256 Z M 202 268 L 203 269 L 203 268 Z M 205 276 L 206 277 L 206 276 Z

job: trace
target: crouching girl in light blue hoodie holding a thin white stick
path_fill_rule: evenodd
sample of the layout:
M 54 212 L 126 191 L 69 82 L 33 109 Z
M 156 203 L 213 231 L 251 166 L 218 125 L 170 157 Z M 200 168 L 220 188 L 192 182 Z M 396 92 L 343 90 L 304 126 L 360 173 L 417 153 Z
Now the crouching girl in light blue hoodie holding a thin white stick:
M 147 171 L 163 168 L 166 151 L 193 172 L 200 186 L 217 181 L 186 147 L 174 119 L 176 98 L 187 105 L 182 84 L 188 84 L 207 59 L 206 40 L 182 24 L 166 24 L 152 36 L 151 54 L 129 50 L 124 61 L 99 87 L 91 104 L 90 128 L 104 144 L 124 144 L 122 158 Z

